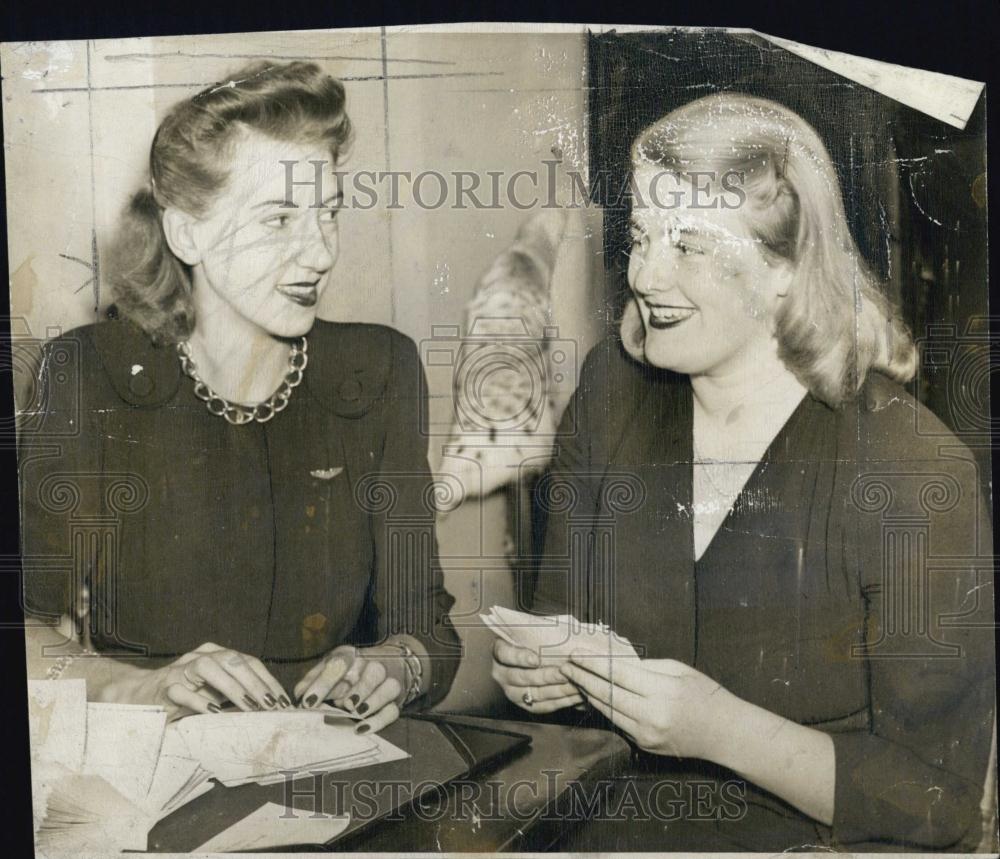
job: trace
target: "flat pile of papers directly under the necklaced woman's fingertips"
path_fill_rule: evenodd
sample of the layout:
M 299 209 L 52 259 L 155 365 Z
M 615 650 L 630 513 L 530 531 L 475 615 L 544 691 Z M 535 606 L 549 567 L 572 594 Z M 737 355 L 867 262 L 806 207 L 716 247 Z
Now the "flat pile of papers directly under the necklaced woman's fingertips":
M 336 772 L 408 757 L 377 734 L 357 734 L 349 717 L 324 710 L 189 716 L 176 731 L 188 758 L 226 787 L 270 784 L 296 774 Z

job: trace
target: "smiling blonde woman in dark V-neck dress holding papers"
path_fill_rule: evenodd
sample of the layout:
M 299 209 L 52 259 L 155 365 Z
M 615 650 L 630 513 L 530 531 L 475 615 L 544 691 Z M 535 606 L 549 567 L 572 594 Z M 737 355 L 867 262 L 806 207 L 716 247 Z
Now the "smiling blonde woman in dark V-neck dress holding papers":
M 494 650 L 518 706 L 585 702 L 632 743 L 602 820 L 560 846 L 975 849 L 987 503 L 972 454 L 901 387 L 914 344 L 825 147 L 725 93 L 632 160 L 632 295 L 541 486 L 533 609 L 608 624 L 641 658 Z

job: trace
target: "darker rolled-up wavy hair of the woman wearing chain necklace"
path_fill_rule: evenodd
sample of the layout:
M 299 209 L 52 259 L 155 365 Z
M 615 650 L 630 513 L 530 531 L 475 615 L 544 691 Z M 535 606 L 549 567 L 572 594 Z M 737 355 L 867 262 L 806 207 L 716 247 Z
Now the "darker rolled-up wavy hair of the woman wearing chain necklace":
M 315 63 L 258 61 L 171 108 L 150 147 L 149 184 L 132 196 L 109 259 L 119 311 L 157 342 L 186 339 L 195 323 L 191 270 L 170 250 L 161 214 L 205 214 L 248 129 L 324 145 L 336 163 L 351 136 L 344 87 Z

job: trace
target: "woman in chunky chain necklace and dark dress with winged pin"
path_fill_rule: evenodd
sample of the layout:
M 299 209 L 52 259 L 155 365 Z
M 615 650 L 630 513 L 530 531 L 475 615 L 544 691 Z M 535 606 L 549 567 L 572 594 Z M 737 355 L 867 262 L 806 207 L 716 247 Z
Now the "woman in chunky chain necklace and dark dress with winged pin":
M 29 662 L 54 648 L 92 700 L 332 700 L 363 732 L 454 676 L 416 349 L 316 318 L 340 197 L 303 176 L 349 135 L 311 63 L 174 106 L 111 260 L 120 318 L 46 347 L 36 437 L 68 432 L 22 435 Z

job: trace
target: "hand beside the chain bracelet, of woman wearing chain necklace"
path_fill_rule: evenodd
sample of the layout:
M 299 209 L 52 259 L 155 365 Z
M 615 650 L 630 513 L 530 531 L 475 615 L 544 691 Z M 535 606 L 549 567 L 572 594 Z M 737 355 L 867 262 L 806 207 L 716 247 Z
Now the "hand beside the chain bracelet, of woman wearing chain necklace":
M 303 707 L 330 700 L 363 716 L 356 728 L 363 734 L 380 731 L 399 718 L 407 692 L 405 677 L 398 648 L 342 645 L 310 668 L 293 691 Z

